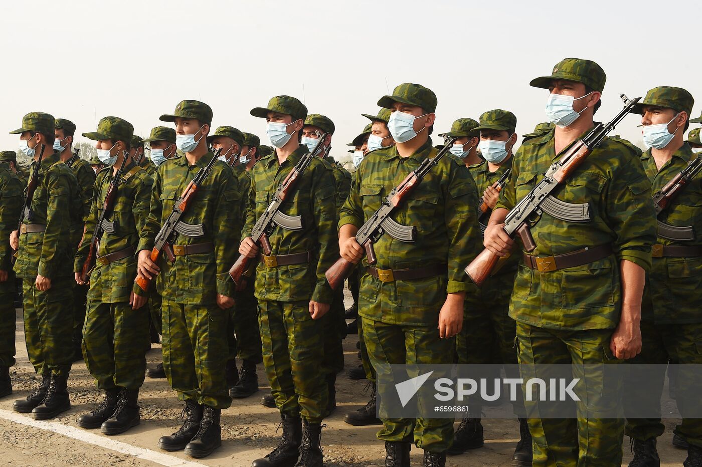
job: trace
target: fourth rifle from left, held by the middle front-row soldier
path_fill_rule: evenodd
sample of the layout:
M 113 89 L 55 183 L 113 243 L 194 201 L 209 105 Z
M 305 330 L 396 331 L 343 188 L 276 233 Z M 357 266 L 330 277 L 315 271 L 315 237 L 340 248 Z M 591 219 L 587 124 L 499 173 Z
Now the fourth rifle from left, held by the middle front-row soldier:
M 317 135 L 319 135 L 319 132 L 317 132 Z M 276 226 L 281 226 L 283 229 L 287 230 L 303 229 L 302 217 L 285 215 L 280 212 L 280 208 L 282 208 L 285 200 L 292 197 L 295 193 L 295 186 L 298 180 L 300 180 L 300 177 L 302 177 L 303 172 L 305 172 L 307 166 L 310 165 L 312 159 L 314 159 L 314 157 L 317 156 L 320 151 L 322 151 L 324 140 L 326 140 L 328 135 L 329 133 L 324 133 L 324 135 L 320 136 L 319 140 L 317 141 L 317 146 L 315 146 L 312 151 L 300 158 L 300 161 L 298 161 L 295 167 L 292 168 L 283 182 L 278 185 L 270 204 L 265 211 L 263 211 L 263 214 L 261 214 L 256 221 L 256 224 L 253 226 L 253 229 L 251 230 L 251 240 L 253 240 L 253 243 L 260 245 L 260 247 L 263 248 L 265 255 L 270 255 L 272 251 L 272 246 L 270 245 L 268 236 Z M 235 284 L 239 285 L 241 282 L 241 276 L 248 271 L 249 265 L 251 264 L 251 259 L 252 258 L 240 255 L 237 262 L 235 262 L 229 269 L 229 275 L 232 280 L 234 280 Z

